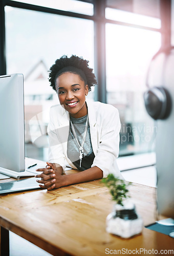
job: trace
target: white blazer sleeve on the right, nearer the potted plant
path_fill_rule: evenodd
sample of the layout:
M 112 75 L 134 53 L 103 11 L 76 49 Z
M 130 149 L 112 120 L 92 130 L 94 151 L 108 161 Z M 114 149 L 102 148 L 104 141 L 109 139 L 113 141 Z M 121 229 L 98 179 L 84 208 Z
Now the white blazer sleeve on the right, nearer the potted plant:
M 113 172 L 114 161 L 119 155 L 120 128 L 119 112 L 112 106 L 102 115 L 98 150 L 92 164 L 92 167 L 97 166 L 103 171 L 103 178 Z

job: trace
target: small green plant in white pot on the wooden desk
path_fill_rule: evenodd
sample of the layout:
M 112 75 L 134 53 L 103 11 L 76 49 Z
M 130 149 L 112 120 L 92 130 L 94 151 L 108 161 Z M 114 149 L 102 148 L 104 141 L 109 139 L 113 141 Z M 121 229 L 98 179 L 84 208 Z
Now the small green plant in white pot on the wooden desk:
M 113 211 L 106 218 L 106 231 L 122 238 L 141 233 L 143 221 L 128 195 L 127 186 L 131 183 L 118 179 L 113 174 L 102 179 L 102 183 L 108 187 L 115 202 Z

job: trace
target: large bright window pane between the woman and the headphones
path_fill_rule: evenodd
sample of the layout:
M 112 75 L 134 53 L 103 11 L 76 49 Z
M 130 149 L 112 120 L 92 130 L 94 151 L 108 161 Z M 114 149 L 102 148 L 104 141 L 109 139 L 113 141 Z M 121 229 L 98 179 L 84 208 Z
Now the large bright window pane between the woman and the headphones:
M 160 44 L 159 32 L 106 24 L 107 103 L 120 113 L 120 155 L 154 149 L 157 127 L 146 113 L 143 93 L 147 67 Z

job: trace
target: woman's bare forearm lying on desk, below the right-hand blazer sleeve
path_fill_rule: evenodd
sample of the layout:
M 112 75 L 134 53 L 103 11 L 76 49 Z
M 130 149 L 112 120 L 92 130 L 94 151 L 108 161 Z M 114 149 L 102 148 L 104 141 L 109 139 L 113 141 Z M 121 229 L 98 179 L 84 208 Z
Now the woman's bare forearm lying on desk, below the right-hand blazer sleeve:
M 103 172 L 97 166 L 91 167 L 90 169 L 83 170 L 76 174 L 69 174 L 63 176 L 63 186 L 71 184 L 82 183 L 92 180 L 98 180 L 103 178 Z

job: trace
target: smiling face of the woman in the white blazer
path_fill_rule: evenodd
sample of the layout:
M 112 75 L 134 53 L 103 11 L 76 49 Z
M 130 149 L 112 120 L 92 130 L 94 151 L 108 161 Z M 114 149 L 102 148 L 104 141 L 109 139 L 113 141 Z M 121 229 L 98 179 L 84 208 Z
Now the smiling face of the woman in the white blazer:
M 77 74 L 63 73 L 56 79 L 56 91 L 62 107 L 74 118 L 87 115 L 85 95 L 88 95 L 88 85 Z

